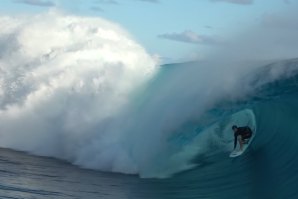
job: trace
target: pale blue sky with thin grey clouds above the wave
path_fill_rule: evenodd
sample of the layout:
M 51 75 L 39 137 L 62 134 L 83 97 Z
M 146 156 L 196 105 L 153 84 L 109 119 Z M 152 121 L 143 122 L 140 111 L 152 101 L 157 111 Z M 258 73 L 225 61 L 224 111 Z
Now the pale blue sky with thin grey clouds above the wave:
M 297 9 L 296 9 L 297 8 Z M 253 26 L 291 22 L 298 0 L 1 0 L 0 14 L 55 9 L 120 24 L 163 63 L 200 59 Z M 293 19 L 295 20 L 295 19 Z

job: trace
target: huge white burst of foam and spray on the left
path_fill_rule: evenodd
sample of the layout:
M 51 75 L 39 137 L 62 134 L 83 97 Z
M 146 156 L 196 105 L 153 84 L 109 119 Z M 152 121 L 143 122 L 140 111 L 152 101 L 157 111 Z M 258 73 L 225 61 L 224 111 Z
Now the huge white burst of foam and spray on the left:
M 154 59 L 100 18 L 51 12 L 2 16 L 0 26 L 1 147 L 136 173 L 117 117 Z

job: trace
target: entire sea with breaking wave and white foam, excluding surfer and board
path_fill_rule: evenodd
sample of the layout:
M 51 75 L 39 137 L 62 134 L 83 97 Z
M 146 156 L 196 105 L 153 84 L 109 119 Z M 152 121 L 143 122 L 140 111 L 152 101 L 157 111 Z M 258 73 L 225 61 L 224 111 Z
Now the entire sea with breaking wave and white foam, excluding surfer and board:
M 298 196 L 298 59 L 282 46 L 160 66 L 104 19 L 0 26 L 1 197 Z M 234 124 L 257 136 L 230 159 Z

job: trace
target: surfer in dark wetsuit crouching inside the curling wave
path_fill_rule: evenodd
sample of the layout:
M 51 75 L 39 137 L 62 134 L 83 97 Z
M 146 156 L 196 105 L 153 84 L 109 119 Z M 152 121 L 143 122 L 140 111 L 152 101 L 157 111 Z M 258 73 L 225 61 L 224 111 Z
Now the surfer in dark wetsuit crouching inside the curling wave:
M 236 125 L 233 125 L 232 129 L 234 131 L 234 150 L 236 149 L 238 140 L 240 145 L 240 151 L 242 151 L 243 144 L 245 143 L 246 139 L 251 138 L 252 131 L 248 126 L 237 127 Z

